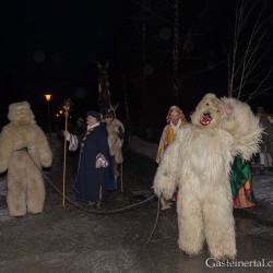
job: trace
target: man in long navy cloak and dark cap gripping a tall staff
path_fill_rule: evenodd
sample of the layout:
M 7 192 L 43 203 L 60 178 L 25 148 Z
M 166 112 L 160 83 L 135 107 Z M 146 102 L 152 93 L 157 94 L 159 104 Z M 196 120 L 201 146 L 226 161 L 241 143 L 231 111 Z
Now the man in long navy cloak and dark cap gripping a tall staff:
M 69 150 L 80 149 L 78 174 L 74 185 L 75 199 L 99 207 L 106 200 L 107 174 L 110 161 L 107 131 L 97 111 L 86 112 L 87 130 L 80 136 L 64 131 Z

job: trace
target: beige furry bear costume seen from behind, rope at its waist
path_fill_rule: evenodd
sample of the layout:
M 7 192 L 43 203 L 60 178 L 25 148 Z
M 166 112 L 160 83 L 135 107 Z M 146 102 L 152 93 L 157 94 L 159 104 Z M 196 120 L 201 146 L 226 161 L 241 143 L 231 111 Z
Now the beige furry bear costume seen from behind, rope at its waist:
M 8 169 L 9 214 L 40 213 L 46 195 L 40 169 L 51 166 L 51 150 L 27 102 L 11 104 L 8 118 L 0 134 L 0 173 Z

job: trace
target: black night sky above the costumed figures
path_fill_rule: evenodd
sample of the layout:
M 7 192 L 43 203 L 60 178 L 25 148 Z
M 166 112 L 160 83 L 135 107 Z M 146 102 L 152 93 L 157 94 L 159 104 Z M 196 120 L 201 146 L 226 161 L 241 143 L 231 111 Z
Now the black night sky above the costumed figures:
M 181 32 L 187 34 L 192 27 L 194 35 L 181 58 L 179 99 L 171 96 L 173 13 L 163 2 L 9 0 L 1 3 L 2 123 L 10 103 L 28 100 L 37 121 L 46 128 L 48 104 L 44 95 L 47 93 L 52 95 L 52 127 L 62 122 L 56 114 L 66 98 L 73 103 L 73 122 L 84 117 L 87 109 L 98 110 L 98 61 L 110 63 L 111 102 L 119 104 L 117 116 L 133 126 L 162 128 L 170 105 L 179 105 L 188 115 L 205 93 L 227 95 L 225 48 L 230 45 L 236 1 L 181 1 Z M 150 9 L 144 10 L 144 61 L 140 32 L 142 3 Z M 202 16 L 205 3 L 207 12 Z M 268 4 L 269 37 L 273 37 L 272 3 L 263 3 Z M 164 14 L 164 19 L 155 14 Z M 272 62 L 271 57 L 266 58 L 266 66 Z M 253 111 L 261 105 L 273 112 L 271 102 L 272 96 L 266 96 L 250 102 L 250 106 Z

